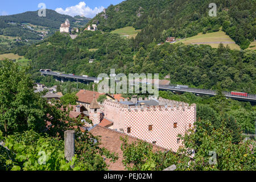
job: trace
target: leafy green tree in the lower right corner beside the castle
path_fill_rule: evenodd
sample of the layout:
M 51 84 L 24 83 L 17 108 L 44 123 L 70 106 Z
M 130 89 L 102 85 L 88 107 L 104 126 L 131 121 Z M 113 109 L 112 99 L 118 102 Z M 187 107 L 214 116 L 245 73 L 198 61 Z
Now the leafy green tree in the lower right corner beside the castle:
M 205 129 L 206 127 L 210 130 Z M 177 151 L 180 154 L 177 169 L 189 171 L 256 169 L 255 143 L 246 141 L 233 144 L 232 134 L 226 130 L 225 122 L 222 122 L 218 129 L 214 129 L 209 121 L 197 121 L 195 128 L 179 137 L 183 140 L 183 146 Z M 189 158 L 192 151 L 195 151 L 193 160 Z

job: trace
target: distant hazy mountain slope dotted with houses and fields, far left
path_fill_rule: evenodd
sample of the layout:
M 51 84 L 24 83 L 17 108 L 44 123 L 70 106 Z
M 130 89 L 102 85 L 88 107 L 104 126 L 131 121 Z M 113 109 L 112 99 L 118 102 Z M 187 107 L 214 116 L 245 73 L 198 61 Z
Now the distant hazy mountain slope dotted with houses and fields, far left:
M 82 27 L 90 20 L 81 16 L 73 18 L 48 9 L 46 17 L 38 16 L 38 11 L 0 16 L 0 54 L 53 35 L 67 18 L 71 22 L 71 27 Z

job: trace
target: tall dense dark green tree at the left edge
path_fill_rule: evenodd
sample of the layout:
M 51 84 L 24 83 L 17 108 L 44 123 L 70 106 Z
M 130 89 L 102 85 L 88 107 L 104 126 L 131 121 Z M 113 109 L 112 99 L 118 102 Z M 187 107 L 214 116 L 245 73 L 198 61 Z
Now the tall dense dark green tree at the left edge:
M 33 86 L 26 69 L 11 60 L 0 63 L 0 130 L 4 135 L 44 129 L 46 102 L 34 93 Z

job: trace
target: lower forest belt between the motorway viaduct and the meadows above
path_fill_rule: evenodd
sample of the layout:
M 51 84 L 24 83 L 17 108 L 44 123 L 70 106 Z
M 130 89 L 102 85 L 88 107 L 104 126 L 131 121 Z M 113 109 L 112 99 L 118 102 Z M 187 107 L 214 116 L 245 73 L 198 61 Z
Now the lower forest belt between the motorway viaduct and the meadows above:
M 96 51 L 92 51 L 95 49 Z M 23 47 L 15 53 L 32 60 L 34 77 L 39 69 L 52 69 L 76 75 L 98 76 L 110 73 L 160 73 L 170 75 L 172 83 L 205 89 L 256 93 L 255 51 L 236 51 L 222 44 L 207 45 L 152 42 L 136 51 L 133 40 L 100 31 L 85 31 L 72 40 L 56 32 L 40 46 Z M 90 64 L 89 60 L 94 59 Z

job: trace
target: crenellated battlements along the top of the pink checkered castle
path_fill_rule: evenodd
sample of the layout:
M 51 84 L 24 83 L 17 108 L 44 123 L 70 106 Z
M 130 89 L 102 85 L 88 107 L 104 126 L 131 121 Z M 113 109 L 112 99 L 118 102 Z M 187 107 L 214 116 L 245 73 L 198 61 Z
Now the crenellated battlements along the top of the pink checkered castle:
M 146 102 L 154 100 L 158 102 L 158 105 L 147 105 Z M 143 102 L 145 101 L 145 103 Z M 104 105 L 109 105 L 112 107 L 115 107 L 116 109 L 119 109 L 121 111 L 174 111 L 174 110 L 190 110 L 195 109 L 196 104 L 191 104 L 189 106 L 188 103 L 180 102 L 180 101 L 173 101 L 164 99 L 162 97 L 149 97 L 149 98 L 139 98 L 137 102 L 134 101 L 128 101 L 127 99 L 120 100 L 119 102 L 117 100 L 105 100 Z

